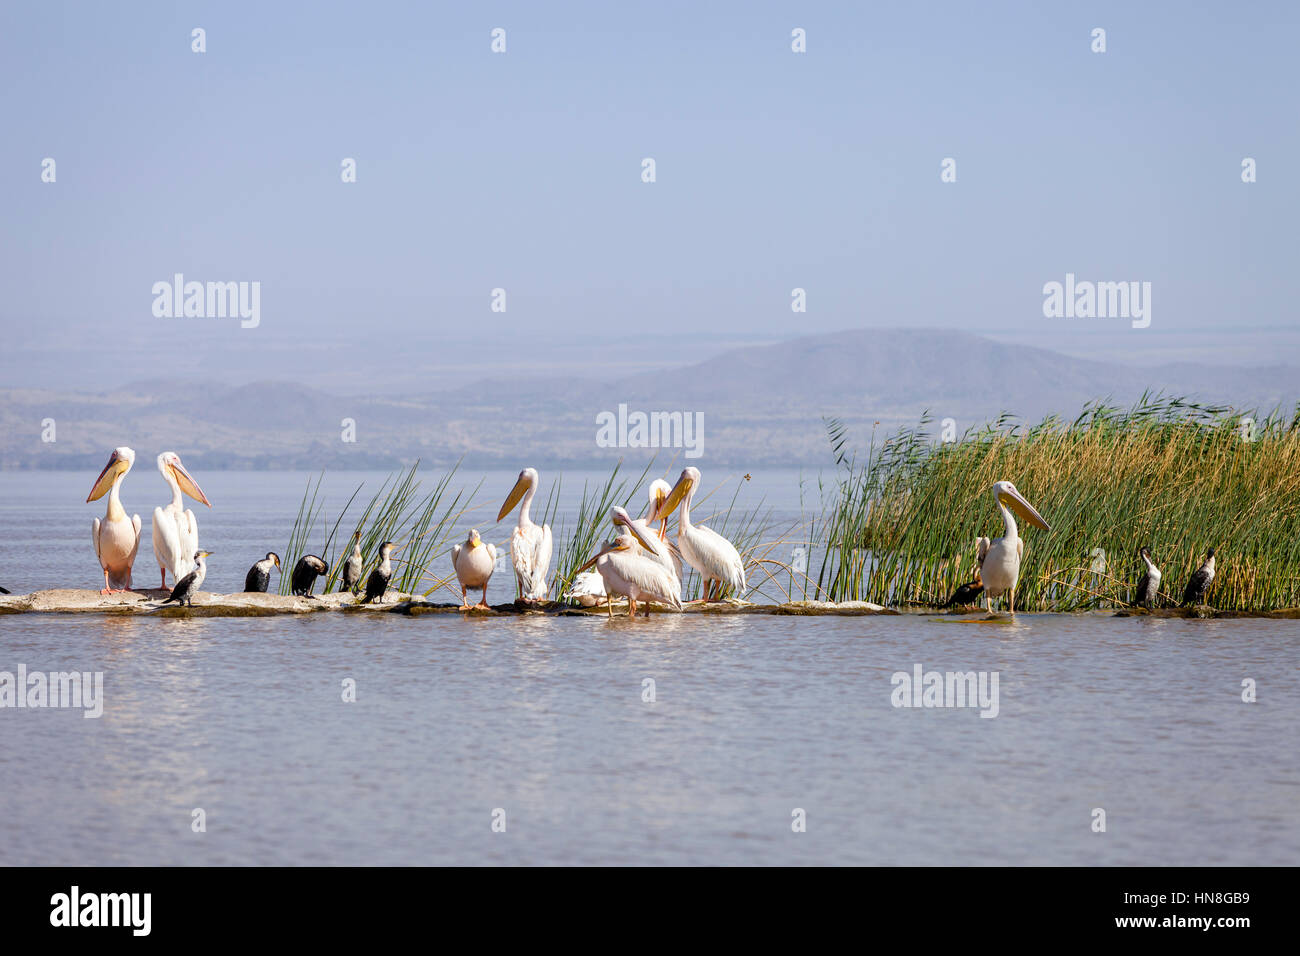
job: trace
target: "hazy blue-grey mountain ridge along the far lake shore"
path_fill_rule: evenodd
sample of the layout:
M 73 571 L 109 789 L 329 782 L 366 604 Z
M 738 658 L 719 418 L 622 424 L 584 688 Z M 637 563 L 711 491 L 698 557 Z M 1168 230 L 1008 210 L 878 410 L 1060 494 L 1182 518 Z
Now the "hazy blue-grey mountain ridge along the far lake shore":
M 515 467 L 612 464 L 653 451 L 598 447 L 597 414 L 703 412 L 701 463 L 827 462 L 823 416 L 866 441 L 923 410 L 958 431 L 1010 411 L 1072 418 L 1088 401 L 1127 405 L 1164 390 L 1242 410 L 1290 407 L 1300 371 L 1175 363 L 1135 368 L 1004 346 L 952 330 L 852 330 L 736 349 L 702 362 L 606 381 L 500 376 L 400 397 L 338 395 L 285 381 L 226 386 L 152 380 L 109 393 L 0 390 L 0 468 L 98 468 L 114 445 L 152 458 L 170 449 L 195 467 L 391 467 L 415 458 Z M 56 441 L 43 442 L 46 419 Z M 344 419 L 356 441 L 344 442 Z M 671 453 L 670 453 L 671 454 Z

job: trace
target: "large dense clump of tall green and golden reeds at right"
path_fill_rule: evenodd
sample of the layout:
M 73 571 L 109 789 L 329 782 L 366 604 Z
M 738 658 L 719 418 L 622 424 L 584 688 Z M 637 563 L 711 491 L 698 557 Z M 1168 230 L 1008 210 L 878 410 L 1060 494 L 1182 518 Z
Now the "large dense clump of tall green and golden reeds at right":
M 872 445 L 861 466 L 840 460 L 820 527 L 818 584 L 832 600 L 944 600 L 972 576 L 976 537 L 1004 533 L 989 488 L 1009 480 L 1052 525 L 1020 522 L 1017 607 L 1124 606 L 1141 545 L 1169 602 L 1214 546 L 1209 604 L 1300 605 L 1300 407 L 1243 416 L 1148 394 L 1128 410 L 1089 405 L 1072 423 L 1004 416 L 939 445 L 927 424 Z

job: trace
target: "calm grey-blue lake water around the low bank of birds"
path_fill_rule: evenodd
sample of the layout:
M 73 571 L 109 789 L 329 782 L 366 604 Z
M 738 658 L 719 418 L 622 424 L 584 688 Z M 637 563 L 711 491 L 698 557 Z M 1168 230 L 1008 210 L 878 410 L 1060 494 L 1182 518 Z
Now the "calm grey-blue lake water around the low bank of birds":
M 0 584 L 96 584 L 94 477 L 0 473 Z M 198 477 L 233 589 L 306 476 Z M 798 475 L 744 494 L 798 515 Z M 138 466 L 146 538 L 162 497 Z M 104 713 L 0 710 L 0 864 L 1300 862 L 1295 622 L 0 615 L 20 663 Z M 916 665 L 997 672 L 997 717 L 893 706 Z

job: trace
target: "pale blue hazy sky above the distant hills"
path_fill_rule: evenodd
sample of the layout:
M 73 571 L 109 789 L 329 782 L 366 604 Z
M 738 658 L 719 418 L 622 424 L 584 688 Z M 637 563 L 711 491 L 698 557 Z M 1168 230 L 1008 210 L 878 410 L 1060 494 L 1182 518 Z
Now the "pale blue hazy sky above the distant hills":
M 874 325 L 1290 360 L 1297 10 L 8 4 L 3 384 L 107 388 L 104 349 L 126 378 L 350 386 L 385 377 L 378 336 L 436 388 Z M 176 272 L 260 281 L 261 326 L 155 319 Z M 1150 281 L 1152 328 L 1044 319 L 1066 272 Z

